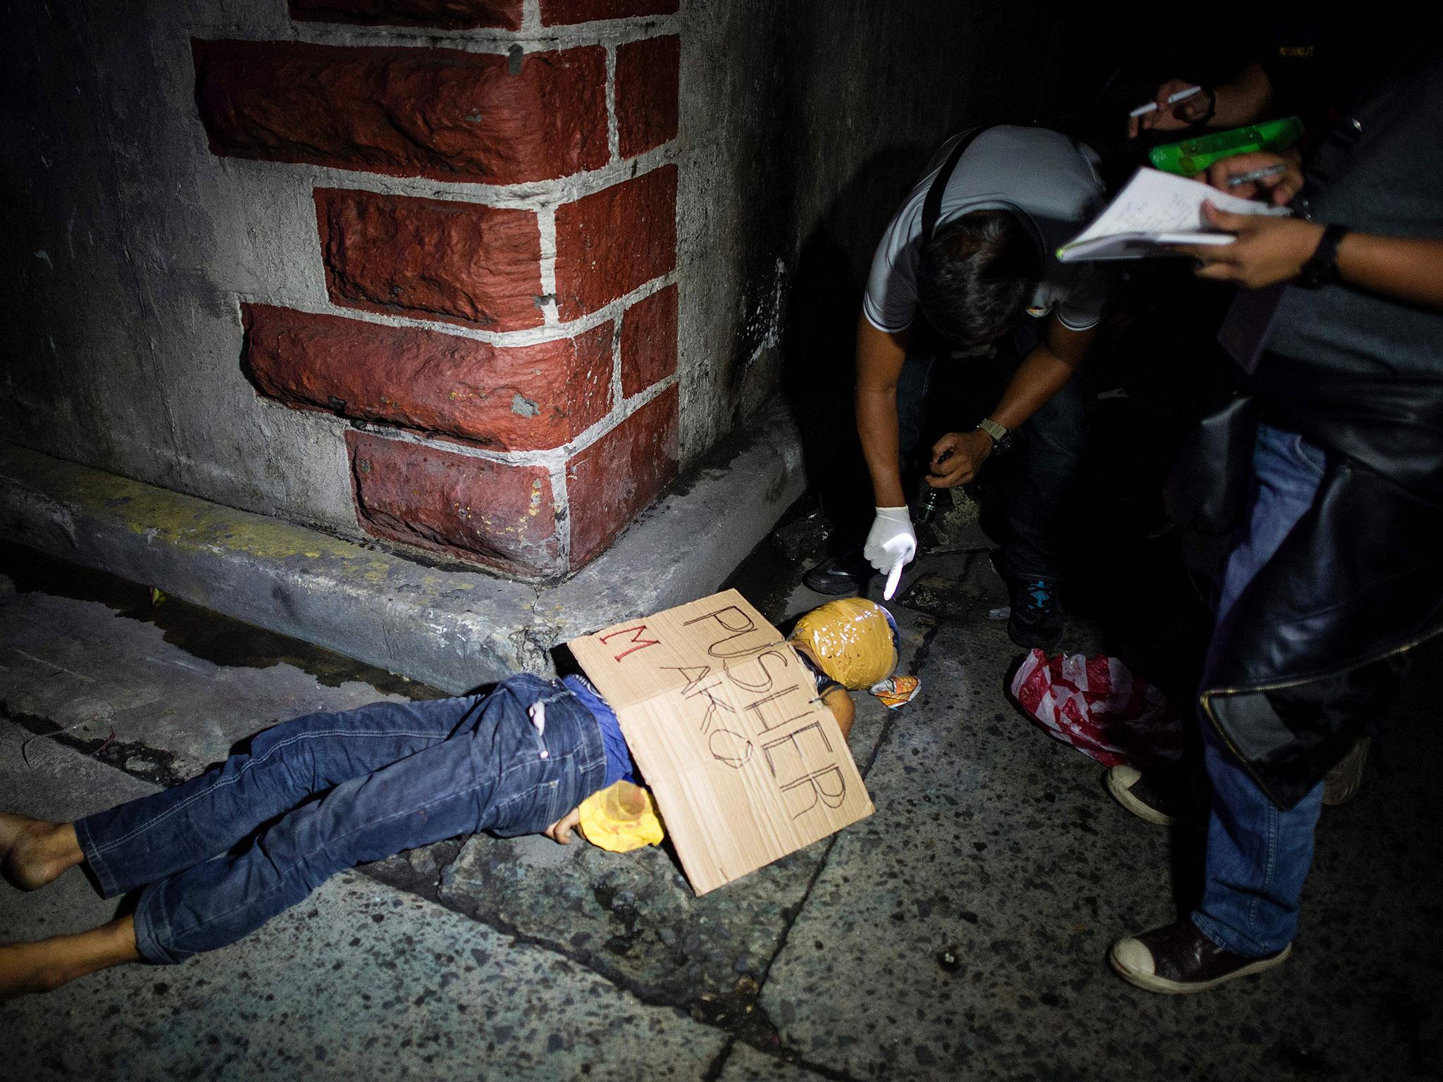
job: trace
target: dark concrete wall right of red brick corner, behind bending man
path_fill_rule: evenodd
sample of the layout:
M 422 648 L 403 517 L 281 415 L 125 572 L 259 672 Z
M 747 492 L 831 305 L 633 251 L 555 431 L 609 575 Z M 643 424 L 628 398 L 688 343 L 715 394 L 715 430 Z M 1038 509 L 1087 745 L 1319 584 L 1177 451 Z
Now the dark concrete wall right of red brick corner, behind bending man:
M 1036 115 L 1056 30 L 1046 4 L 1023 19 L 996 0 L 683 0 L 683 16 L 680 374 L 696 454 L 784 365 L 824 352 L 850 371 L 896 203 L 949 131 Z

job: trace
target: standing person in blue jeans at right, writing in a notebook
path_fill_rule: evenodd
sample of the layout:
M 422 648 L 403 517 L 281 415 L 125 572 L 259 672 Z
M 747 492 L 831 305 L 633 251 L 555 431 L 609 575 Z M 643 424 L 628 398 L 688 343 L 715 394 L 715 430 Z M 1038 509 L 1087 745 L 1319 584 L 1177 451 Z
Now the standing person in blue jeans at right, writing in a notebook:
M 1439 162 L 1434 55 L 1351 110 L 1306 177 L 1293 166 L 1261 182 L 1277 202 L 1302 189 L 1300 216 L 1208 208 L 1238 239 L 1183 250 L 1201 277 L 1244 287 L 1219 339 L 1255 407 L 1228 415 L 1255 439 L 1251 462 L 1214 463 L 1216 478 L 1241 466 L 1251 488 L 1199 697 L 1202 899 L 1111 952 L 1149 991 L 1202 991 L 1287 956 L 1323 778 L 1390 704 L 1407 651 L 1443 630 Z M 1273 164 L 1286 163 L 1244 154 L 1209 180 L 1251 196 L 1227 177 Z

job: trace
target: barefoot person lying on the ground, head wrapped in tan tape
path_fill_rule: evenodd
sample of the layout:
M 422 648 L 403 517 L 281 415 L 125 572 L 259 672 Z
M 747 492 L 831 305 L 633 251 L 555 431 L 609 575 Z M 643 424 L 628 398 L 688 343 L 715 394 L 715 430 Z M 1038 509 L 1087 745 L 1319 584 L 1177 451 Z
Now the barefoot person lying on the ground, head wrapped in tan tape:
M 841 729 L 896 668 L 880 607 L 814 610 L 792 645 Z M 835 672 L 843 679 L 834 679 Z M 130 916 L 0 944 L 0 1000 L 123 962 L 180 962 L 255 931 L 362 861 L 465 834 L 570 841 L 587 796 L 635 779 L 616 714 L 582 677 L 508 677 L 483 695 L 307 714 L 189 782 L 76 822 L 0 814 L 0 874 L 38 890 L 82 864 Z

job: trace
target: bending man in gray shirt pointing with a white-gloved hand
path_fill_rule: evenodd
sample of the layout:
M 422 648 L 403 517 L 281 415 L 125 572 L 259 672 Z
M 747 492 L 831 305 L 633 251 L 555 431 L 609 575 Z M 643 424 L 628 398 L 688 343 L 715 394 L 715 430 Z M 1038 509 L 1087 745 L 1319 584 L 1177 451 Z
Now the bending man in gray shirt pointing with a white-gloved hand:
M 1001 400 L 975 428 L 932 446 L 926 478 L 955 488 L 1017 444 L 1003 557 L 1007 630 L 1023 646 L 1053 648 L 1062 636 L 1056 518 L 1082 443 L 1072 375 L 1097 335 L 1108 286 L 1095 264 L 1062 264 L 1055 252 L 1102 198 L 1095 154 L 1058 131 L 999 126 L 954 136 L 883 234 L 857 323 L 857 430 L 876 506 L 863 555 L 886 574 L 916 554 L 899 457 L 903 437 L 915 439 L 926 368 L 938 356 L 983 364 L 994 342 L 1027 316 L 1036 320 L 1019 332 Z M 828 564 L 807 581 L 844 591 L 869 574 L 866 566 Z

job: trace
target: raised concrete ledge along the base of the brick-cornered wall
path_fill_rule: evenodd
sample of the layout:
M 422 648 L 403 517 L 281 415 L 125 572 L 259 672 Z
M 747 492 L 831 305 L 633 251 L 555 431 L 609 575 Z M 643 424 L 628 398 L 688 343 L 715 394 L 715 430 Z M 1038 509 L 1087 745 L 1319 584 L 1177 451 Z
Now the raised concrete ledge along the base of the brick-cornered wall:
M 579 573 L 525 583 L 0 441 L 0 540 L 462 694 L 545 671 L 577 635 L 714 591 L 804 486 L 797 426 L 773 398 Z

